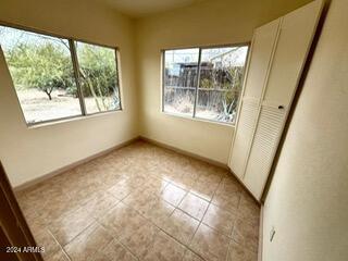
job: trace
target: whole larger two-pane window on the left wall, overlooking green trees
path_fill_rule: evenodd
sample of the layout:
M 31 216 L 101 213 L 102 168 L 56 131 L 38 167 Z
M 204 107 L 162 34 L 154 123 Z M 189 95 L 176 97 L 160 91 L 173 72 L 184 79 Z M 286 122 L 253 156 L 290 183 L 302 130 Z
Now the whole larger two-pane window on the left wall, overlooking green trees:
M 0 26 L 27 124 L 120 110 L 116 50 Z

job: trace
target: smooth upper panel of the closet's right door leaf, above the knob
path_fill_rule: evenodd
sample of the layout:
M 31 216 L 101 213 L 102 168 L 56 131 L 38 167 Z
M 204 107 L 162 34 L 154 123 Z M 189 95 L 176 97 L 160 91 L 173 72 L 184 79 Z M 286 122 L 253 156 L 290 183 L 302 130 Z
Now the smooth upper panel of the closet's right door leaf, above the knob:
M 293 99 L 320 10 L 321 1 L 315 1 L 284 16 L 264 95 L 268 102 L 287 105 Z

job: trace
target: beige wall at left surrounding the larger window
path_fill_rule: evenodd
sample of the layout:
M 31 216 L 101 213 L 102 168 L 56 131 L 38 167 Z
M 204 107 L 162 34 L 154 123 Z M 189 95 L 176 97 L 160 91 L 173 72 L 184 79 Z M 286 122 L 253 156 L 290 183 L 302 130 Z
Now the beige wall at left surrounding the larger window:
M 1 1 L 0 20 L 120 47 L 124 111 L 28 128 L 0 55 L 0 159 L 16 186 L 138 135 L 133 22 L 87 1 Z

